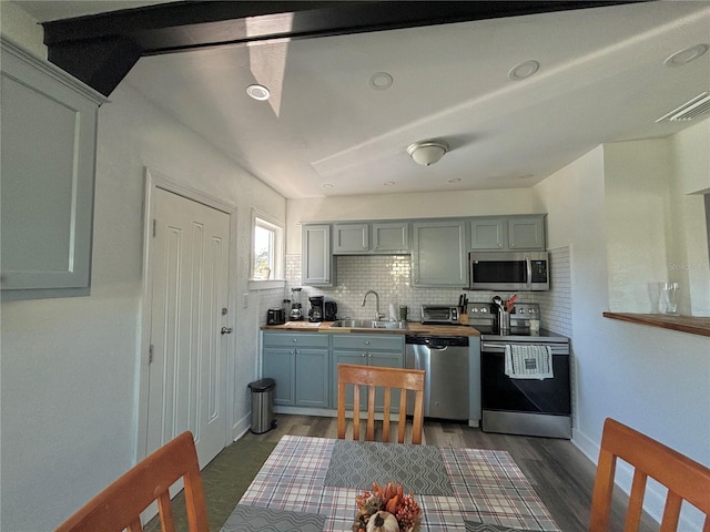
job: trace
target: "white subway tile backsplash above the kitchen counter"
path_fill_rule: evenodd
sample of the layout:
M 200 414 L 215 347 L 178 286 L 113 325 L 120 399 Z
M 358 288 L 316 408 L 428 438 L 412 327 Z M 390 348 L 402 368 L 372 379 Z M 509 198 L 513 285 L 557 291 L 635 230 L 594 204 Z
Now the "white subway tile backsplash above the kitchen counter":
M 571 336 L 571 270 L 570 248 L 568 246 L 550 249 L 550 290 L 518 293 L 520 303 L 538 303 L 544 328 L 565 336 Z M 420 306 L 456 305 L 460 288 L 413 288 L 410 284 L 412 263 L 409 255 L 342 255 L 336 258 L 337 286 L 304 286 L 301 301 L 305 311 L 310 296 L 325 296 L 326 300 L 337 303 L 341 318 L 369 319 L 375 316 L 375 298 L 367 297 L 363 307 L 363 296 L 368 290 L 379 295 L 379 311 L 388 314 L 389 304 L 398 310 L 399 305 L 408 307 L 408 319 L 422 319 Z M 261 300 L 270 301 L 263 308 L 280 306 L 282 299 L 291 298 L 291 288 L 301 285 L 301 255 L 286 257 L 286 287 L 268 290 Z M 466 291 L 471 301 L 489 301 L 496 293 Z M 504 299 L 513 294 L 498 294 Z

